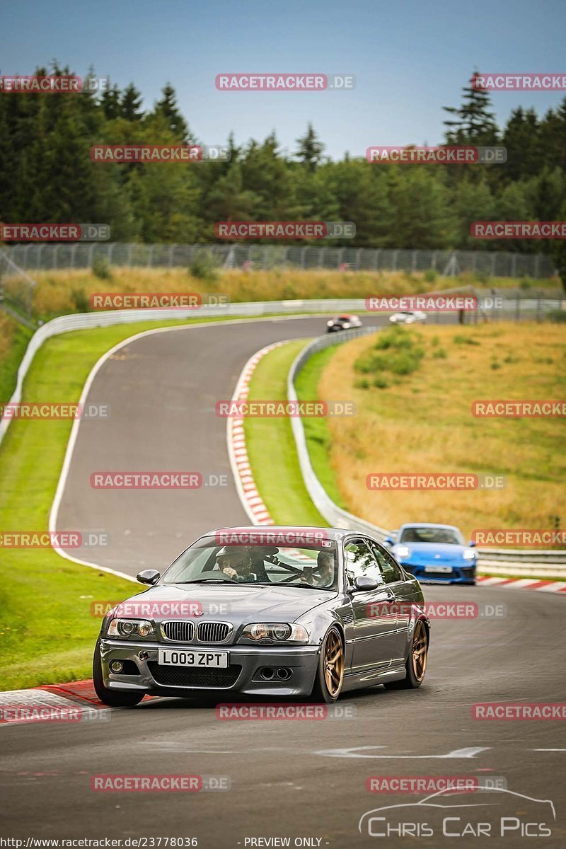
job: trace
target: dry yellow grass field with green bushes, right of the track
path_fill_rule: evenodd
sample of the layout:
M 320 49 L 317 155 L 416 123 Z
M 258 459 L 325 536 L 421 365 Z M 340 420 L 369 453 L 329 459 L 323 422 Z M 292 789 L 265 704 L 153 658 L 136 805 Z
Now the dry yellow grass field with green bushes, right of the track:
M 357 405 L 356 416 L 328 419 L 329 460 L 348 509 L 386 528 L 444 522 L 460 526 L 466 537 L 474 528 L 548 528 L 555 517 L 563 527 L 564 419 L 478 419 L 470 408 L 476 399 L 566 397 L 564 326 L 502 323 L 405 332 L 420 336 L 424 350 L 413 374 L 385 389 L 359 388 L 364 375 L 355 361 L 375 344 L 372 335 L 339 346 L 318 385 L 323 400 L 349 398 Z M 373 472 L 486 473 L 505 475 L 507 485 L 468 492 L 369 491 L 366 476 Z

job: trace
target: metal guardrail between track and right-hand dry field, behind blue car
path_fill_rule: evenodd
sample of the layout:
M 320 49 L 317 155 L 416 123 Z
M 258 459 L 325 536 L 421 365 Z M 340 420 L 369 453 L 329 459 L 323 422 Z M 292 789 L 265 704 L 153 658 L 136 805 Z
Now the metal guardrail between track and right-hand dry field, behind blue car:
M 325 348 L 339 345 L 358 336 L 375 333 L 378 328 L 364 327 L 355 330 L 345 330 L 340 334 L 322 336 L 311 342 L 294 359 L 289 369 L 287 378 L 287 396 L 289 401 L 297 401 L 297 391 L 294 381 L 305 363 Z M 372 534 L 381 542 L 389 537 L 392 531 L 372 525 L 358 516 L 348 513 L 335 504 L 328 492 L 318 480 L 315 470 L 312 468 L 311 458 L 305 439 L 305 429 L 300 417 L 292 418 L 291 429 L 293 430 L 294 442 L 299 457 L 300 470 L 305 481 L 306 490 L 315 504 L 318 512 L 333 527 L 348 528 L 351 531 L 362 531 Z M 566 578 L 566 551 L 528 551 L 518 548 L 482 548 L 479 552 L 479 571 L 486 574 L 496 572 L 501 575 L 541 576 L 544 578 Z

